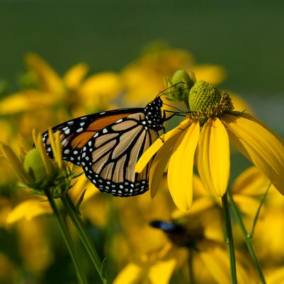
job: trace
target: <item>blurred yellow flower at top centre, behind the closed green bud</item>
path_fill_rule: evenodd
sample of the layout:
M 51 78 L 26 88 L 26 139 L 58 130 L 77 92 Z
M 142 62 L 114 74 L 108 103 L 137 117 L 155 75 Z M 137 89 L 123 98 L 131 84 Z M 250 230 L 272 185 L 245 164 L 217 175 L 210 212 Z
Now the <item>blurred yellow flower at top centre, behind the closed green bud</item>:
M 165 76 L 172 76 L 178 69 L 194 72 L 198 80 L 212 84 L 220 84 L 225 79 L 224 68 L 210 64 L 197 65 L 188 51 L 160 45 L 147 50 L 123 69 L 123 104 L 141 106 L 152 101 L 155 94 L 165 89 Z

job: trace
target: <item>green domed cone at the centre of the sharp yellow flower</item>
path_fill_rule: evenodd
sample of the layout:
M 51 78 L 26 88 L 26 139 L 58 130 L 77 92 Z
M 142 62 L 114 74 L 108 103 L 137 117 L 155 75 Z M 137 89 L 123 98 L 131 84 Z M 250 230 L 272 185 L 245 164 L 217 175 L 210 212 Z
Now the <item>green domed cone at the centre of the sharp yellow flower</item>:
M 189 92 L 188 103 L 191 111 L 208 110 L 220 101 L 221 93 L 215 86 L 205 81 L 197 81 Z

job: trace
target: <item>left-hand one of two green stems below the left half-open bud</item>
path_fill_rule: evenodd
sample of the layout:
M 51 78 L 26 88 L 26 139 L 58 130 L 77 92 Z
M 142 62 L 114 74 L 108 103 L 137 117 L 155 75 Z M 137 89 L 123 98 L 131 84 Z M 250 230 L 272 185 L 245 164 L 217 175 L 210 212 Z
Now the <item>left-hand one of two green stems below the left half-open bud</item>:
M 88 284 L 85 273 L 83 272 L 83 269 L 81 268 L 79 261 L 76 259 L 76 255 L 74 252 L 74 246 L 72 244 L 72 239 L 69 235 L 68 229 L 64 223 L 64 220 L 62 218 L 62 215 L 59 214 L 59 211 L 57 209 L 57 206 L 55 204 L 55 200 L 52 198 L 52 195 L 50 194 L 50 191 L 45 190 L 45 195 L 47 196 L 47 199 L 50 203 L 50 206 L 52 208 L 53 213 L 55 214 L 55 217 L 57 218 L 57 222 L 59 225 L 60 232 L 62 233 L 62 237 L 64 239 L 64 242 L 67 246 L 67 249 L 69 251 L 69 254 L 72 258 L 72 261 L 74 263 L 75 269 L 76 269 L 76 276 L 78 278 L 78 281 L 80 284 Z

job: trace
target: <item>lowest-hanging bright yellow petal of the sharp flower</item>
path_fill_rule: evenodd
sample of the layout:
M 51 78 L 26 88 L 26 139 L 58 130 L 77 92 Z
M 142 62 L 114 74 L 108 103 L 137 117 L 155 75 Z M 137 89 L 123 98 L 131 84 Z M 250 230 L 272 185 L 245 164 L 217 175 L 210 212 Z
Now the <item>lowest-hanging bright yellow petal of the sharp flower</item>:
M 191 208 L 193 199 L 193 159 L 198 144 L 200 126 L 194 122 L 176 142 L 168 168 L 171 196 L 181 210 Z

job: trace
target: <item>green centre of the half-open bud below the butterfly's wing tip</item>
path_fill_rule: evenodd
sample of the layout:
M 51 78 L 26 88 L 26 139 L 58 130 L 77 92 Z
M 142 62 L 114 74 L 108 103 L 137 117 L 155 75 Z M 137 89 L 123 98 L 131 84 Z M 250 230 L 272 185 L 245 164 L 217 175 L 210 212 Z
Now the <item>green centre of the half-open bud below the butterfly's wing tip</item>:
M 25 155 L 23 168 L 33 178 L 35 183 L 46 181 L 48 178 L 45 171 L 45 164 L 43 164 L 38 149 L 31 149 L 28 154 Z

